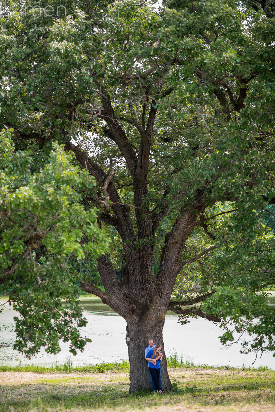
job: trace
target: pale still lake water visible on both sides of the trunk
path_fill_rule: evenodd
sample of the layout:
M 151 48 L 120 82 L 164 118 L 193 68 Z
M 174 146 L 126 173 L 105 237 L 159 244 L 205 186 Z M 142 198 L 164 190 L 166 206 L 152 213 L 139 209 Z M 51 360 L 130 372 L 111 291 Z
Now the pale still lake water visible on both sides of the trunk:
M 275 306 L 275 293 L 271 292 L 270 304 Z M 0 304 L 7 301 L 6 297 L 0 297 Z M 94 296 L 80 296 L 84 315 L 88 320 L 85 328 L 82 328 L 83 335 L 89 337 L 92 342 L 86 344 L 83 353 L 79 352 L 73 357 L 74 365 L 96 364 L 99 362 L 114 362 L 128 358 L 128 351 L 125 342 L 126 322 L 117 315 L 110 307 L 103 304 L 101 300 Z M 69 344 L 61 342 L 61 352 L 58 356 L 49 355 L 41 351 L 31 361 L 28 361 L 18 351 L 14 351 L 15 341 L 14 320 L 16 312 L 9 304 L 5 304 L 4 310 L 0 314 L 0 363 L 5 365 L 46 364 L 63 361 L 72 356 L 69 352 Z M 234 344 L 226 349 L 219 342 L 218 336 L 222 334 L 219 325 L 205 319 L 190 319 L 187 325 L 177 323 L 178 316 L 173 312 L 168 312 L 165 318 L 163 329 L 163 341 L 165 353 L 169 354 L 177 351 L 186 361 L 193 361 L 195 365 L 230 365 L 240 367 L 252 365 L 255 354 L 247 355 L 240 353 L 240 344 Z M 112 347 L 112 350 L 110 350 Z M 254 366 L 268 365 L 275 370 L 275 358 L 272 353 L 264 353 L 261 358 L 257 358 Z

